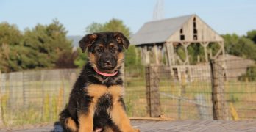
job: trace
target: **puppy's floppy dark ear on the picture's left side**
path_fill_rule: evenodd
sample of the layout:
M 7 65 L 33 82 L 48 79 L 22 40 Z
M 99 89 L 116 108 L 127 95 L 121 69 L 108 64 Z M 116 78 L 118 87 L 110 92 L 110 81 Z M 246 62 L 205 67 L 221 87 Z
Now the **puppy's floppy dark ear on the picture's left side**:
M 86 48 L 90 47 L 90 45 L 95 42 L 97 37 L 97 34 L 87 34 L 85 37 L 82 37 L 82 39 L 79 41 L 79 46 L 82 49 L 82 52 L 85 52 Z

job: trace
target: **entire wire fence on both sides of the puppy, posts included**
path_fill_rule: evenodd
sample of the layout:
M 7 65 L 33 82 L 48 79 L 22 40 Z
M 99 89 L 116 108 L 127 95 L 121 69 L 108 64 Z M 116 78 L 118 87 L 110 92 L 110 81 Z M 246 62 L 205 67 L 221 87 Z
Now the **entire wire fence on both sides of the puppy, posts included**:
M 0 125 L 56 121 L 79 72 L 1 73 Z M 163 65 L 126 67 L 124 87 L 129 117 L 164 114 L 173 120 L 213 120 L 218 114 L 223 120 L 256 119 L 256 67 L 246 59 L 175 66 L 171 70 Z

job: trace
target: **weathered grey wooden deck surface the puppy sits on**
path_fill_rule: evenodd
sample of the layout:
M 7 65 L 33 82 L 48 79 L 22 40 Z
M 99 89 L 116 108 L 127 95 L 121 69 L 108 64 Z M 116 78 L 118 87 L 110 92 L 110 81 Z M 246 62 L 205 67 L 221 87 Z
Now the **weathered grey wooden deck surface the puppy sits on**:
M 216 121 L 216 120 L 182 120 L 182 121 L 157 121 L 157 120 L 132 120 L 134 128 L 142 132 L 152 131 L 256 131 L 256 120 L 254 121 Z M 52 131 L 53 125 L 41 126 L 38 128 L 9 130 L 14 132 L 44 132 Z M 1 130 L 0 130 L 1 131 Z M 7 131 L 7 130 L 2 130 Z

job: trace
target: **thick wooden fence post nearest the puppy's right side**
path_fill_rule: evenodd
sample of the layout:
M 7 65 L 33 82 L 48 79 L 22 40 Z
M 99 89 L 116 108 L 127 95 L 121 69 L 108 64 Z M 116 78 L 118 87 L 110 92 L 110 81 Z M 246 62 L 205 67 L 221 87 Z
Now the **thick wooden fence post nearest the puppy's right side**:
M 160 115 L 159 76 L 157 65 L 146 66 L 146 102 L 150 117 Z

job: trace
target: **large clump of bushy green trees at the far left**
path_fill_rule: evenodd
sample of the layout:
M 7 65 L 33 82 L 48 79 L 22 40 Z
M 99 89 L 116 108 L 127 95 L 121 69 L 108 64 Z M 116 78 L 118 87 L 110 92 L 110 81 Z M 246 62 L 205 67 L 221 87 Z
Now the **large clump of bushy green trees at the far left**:
M 63 67 L 67 60 L 74 66 L 75 54 L 66 34 L 57 20 L 26 29 L 24 34 L 15 25 L 0 23 L 0 70 Z

